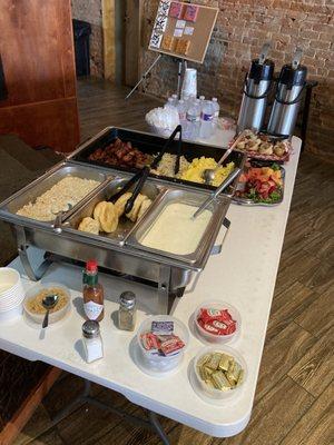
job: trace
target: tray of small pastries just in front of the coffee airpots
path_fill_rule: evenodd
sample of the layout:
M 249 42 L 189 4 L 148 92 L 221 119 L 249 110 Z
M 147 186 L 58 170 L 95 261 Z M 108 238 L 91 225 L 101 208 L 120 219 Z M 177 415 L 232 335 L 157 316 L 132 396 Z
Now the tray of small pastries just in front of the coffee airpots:
M 252 130 L 245 130 L 235 148 L 245 151 L 250 159 L 278 164 L 288 161 L 292 152 L 292 145 L 288 139 L 274 138 L 263 132 L 255 134 Z

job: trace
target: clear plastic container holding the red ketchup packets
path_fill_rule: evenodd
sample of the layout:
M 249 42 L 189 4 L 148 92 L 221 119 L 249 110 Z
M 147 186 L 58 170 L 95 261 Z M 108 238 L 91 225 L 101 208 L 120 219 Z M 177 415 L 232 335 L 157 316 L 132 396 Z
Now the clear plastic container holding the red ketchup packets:
M 215 335 L 205 330 L 198 323 L 198 316 L 202 308 L 213 308 L 213 309 L 227 309 L 232 316 L 232 318 L 236 322 L 236 330 L 229 335 Z M 204 301 L 200 306 L 198 306 L 194 313 L 194 323 L 199 334 L 200 338 L 207 343 L 216 343 L 216 344 L 225 344 L 230 342 L 232 339 L 239 336 L 242 328 L 242 316 L 239 312 L 232 305 L 225 301 Z

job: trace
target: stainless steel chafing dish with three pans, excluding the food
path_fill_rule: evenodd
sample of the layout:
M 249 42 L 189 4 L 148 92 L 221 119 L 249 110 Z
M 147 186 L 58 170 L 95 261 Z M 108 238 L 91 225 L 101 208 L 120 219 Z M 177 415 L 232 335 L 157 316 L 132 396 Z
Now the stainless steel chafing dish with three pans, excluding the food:
M 59 230 L 56 230 L 53 221 L 42 222 L 16 215 L 20 207 L 36 199 L 66 175 L 97 179 L 100 186 L 62 215 Z M 198 248 L 189 256 L 173 255 L 140 245 L 140 236 L 150 227 L 166 204 L 181 199 L 200 205 L 207 198 L 208 190 L 199 190 L 186 184 L 171 184 L 150 178 L 143 191 L 154 202 L 139 221 L 124 222 L 118 233 L 109 236 L 79 231 L 77 229 L 79 221 L 85 216 L 91 216 L 95 205 L 109 198 L 130 176 L 129 172 L 97 166 L 88 167 L 69 159 L 0 204 L 0 219 L 8 221 L 16 233 L 19 255 L 27 275 L 31 279 L 39 279 L 47 267 L 47 264 L 42 265 L 45 267 L 38 273 L 32 269 L 27 250 L 29 246 L 73 260 L 87 261 L 96 258 L 101 267 L 111 273 L 130 276 L 131 279 L 135 277 L 156 286 L 159 312 L 167 313 L 170 307 L 169 297 L 180 296 L 193 276 L 204 269 L 215 247 L 230 197 L 220 196 L 213 204 L 213 217 L 208 227 Z

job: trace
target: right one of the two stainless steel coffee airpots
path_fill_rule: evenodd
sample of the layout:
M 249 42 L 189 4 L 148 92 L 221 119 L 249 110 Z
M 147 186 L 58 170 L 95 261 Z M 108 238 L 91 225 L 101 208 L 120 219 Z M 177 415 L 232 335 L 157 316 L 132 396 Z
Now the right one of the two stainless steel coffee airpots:
M 302 53 L 297 48 L 293 62 L 281 70 L 267 128 L 271 135 L 292 136 L 294 132 L 307 76 L 307 68 L 299 65 Z

